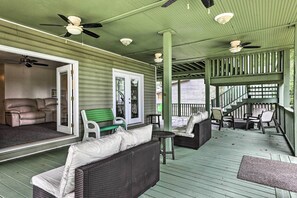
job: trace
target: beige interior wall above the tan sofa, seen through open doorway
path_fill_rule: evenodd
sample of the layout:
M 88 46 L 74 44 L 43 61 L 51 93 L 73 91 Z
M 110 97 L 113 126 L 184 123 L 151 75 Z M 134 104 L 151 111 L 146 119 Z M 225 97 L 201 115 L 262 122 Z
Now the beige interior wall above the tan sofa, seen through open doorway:
M 55 88 L 55 69 L 5 64 L 5 98 L 48 98 Z

